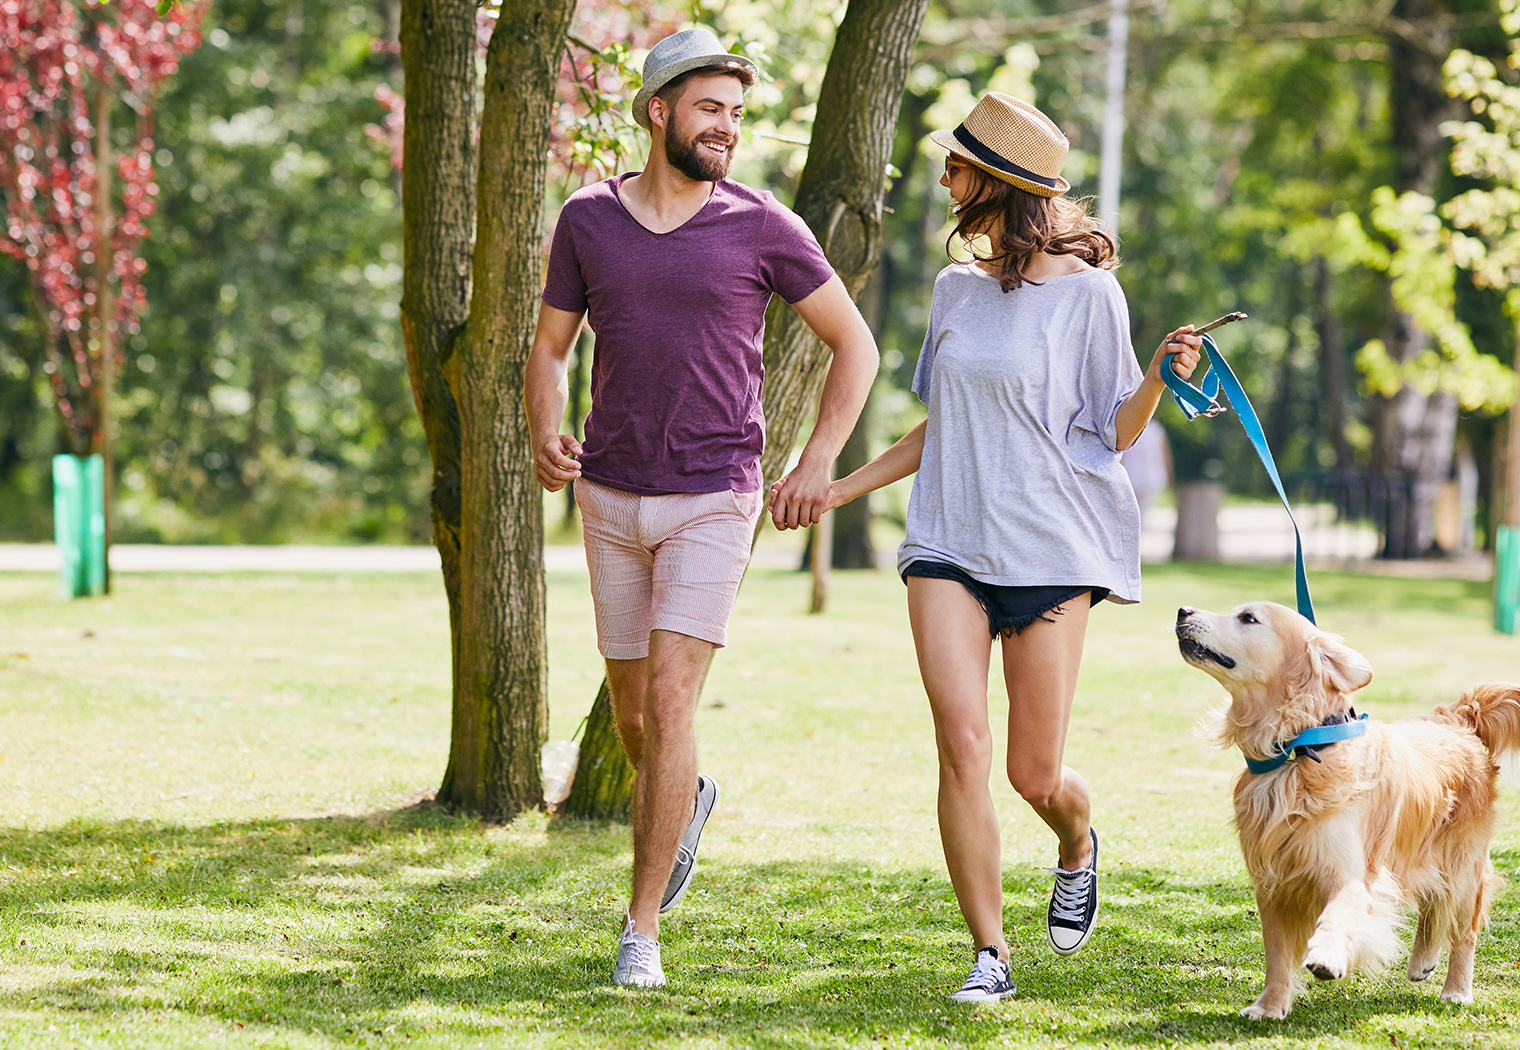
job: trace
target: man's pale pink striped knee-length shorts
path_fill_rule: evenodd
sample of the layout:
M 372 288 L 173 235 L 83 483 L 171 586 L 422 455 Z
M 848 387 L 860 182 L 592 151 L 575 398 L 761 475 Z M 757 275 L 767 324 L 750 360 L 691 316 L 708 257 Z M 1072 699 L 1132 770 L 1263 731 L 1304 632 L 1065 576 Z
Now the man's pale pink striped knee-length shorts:
M 758 489 L 637 495 L 582 477 L 575 501 L 602 656 L 648 656 L 651 631 L 727 643 L 760 517 Z

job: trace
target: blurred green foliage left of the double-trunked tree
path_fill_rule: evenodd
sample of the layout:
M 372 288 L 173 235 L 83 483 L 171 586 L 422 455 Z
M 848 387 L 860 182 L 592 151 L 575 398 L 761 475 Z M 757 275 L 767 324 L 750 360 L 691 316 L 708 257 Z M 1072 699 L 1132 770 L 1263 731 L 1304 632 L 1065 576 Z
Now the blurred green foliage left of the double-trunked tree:
M 366 134 L 385 115 L 377 85 L 400 82 L 383 11 L 233 0 L 204 32 L 155 109 L 149 308 L 119 378 L 117 538 L 426 539 L 400 181 Z M 21 365 L 0 368 L 0 401 L 27 400 L 41 351 L 20 319 L 9 330 L 0 356 Z M 9 474 L 0 456 L 0 532 L 27 538 L 49 532 L 40 394 L 0 415 L 0 445 L 27 447 Z M 33 500 L 40 514 L 6 512 Z

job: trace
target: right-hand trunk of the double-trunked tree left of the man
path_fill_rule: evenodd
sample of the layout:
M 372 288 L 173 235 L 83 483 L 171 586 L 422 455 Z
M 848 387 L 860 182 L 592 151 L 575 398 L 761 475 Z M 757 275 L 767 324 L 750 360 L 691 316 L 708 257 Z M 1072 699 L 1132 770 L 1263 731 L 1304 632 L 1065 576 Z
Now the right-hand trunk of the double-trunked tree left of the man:
M 444 365 L 459 409 L 459 632 L 439 801 L 511 819 L 543 804 L 549 723 L 544 508 L 523 366 L 543 283 L 550 108 L 575 0 L 506 5 L 486 49 L 470 315 Z

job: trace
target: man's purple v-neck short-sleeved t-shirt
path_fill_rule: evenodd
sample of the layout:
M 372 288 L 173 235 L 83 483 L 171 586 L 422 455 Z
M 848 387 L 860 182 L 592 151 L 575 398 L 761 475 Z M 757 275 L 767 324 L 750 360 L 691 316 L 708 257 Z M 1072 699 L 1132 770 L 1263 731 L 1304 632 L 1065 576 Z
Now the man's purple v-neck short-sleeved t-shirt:
M 625 178 L 565 201 L 544 284 L 544 302 L 585 310 L 596 331 L 581 473 L 640 495 L 752 492 L 766 305 L 806 299 L 834 270 L 769 193 L 724 179 L 655 234 L 617 196 Z

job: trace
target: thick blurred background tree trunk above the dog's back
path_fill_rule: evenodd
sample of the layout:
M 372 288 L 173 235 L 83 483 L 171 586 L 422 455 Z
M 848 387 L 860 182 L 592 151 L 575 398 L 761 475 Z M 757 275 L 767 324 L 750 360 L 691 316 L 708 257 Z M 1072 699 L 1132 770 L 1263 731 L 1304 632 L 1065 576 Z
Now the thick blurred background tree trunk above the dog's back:
M 1430 18 L 1441 6 L 1436 0 L 1397 0 L 1391 14 Z M 1452 112 L 1452 100 L 1442 90 L 1441 61 L 1450 33 L 1432 32 L 1433 38 L 1420 43 L 1397 33 L 1388 38 L 1398 191 L 1433 195 L 1447 155 L 1441 123 Z M 1426 351 L 1430 336 L 1395 310 L 1386 345 L 1389 357 L 1404 363 Z M 1420 558 L 1432 550 L 1435 500 L 1452 470 L 1456 412 L 1456 398 L 1444 391 L 1423 394 L 1404 386 L 1391 398 L 1374 398 L 1373 470 L 1388 480 L 1392 497 L 1383 558 Z

